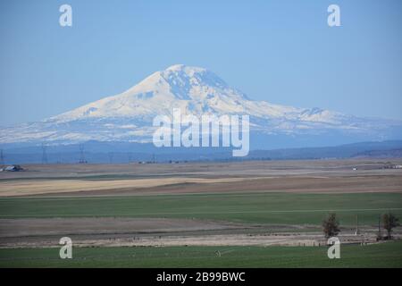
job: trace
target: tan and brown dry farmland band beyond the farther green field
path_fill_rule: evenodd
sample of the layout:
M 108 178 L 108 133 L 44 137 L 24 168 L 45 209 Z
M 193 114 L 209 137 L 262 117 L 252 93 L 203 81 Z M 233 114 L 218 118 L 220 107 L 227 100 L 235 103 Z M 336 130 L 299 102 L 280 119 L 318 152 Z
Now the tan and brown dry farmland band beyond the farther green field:
M 27 165 L 0 172 L 0 197 L 116 196 L 225 191 L 400 192 L 390 160 L 314 160 L 188 164 Z M 353 168 L 357 168 L 356 171 Z

